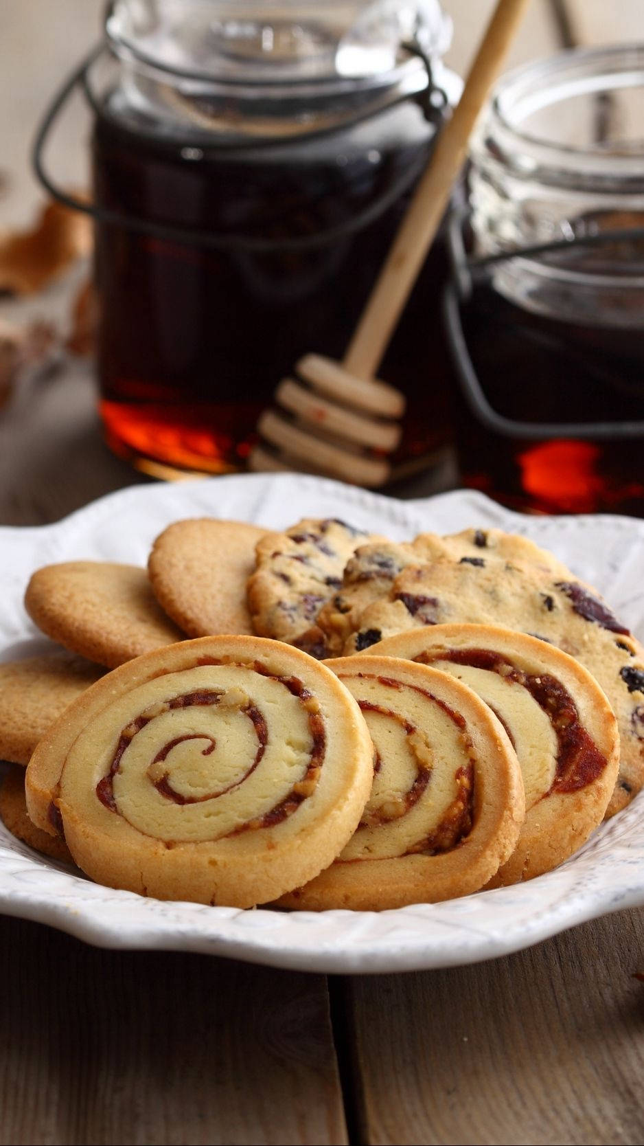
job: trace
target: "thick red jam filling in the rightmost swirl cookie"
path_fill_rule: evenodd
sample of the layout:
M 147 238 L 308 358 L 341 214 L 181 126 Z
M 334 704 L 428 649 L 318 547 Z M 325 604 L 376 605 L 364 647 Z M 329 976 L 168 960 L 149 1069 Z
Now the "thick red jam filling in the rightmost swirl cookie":
M 557 739 L 555 779 L 544 795 L 579 792 L 604 771 L 606 758 L 583 728 L 573 698 L 549 673 L 526 673 L 492 649 L 437 649 L 419 653 L 414 659 L 422 665 L 449 661 L 481 668 L 526 689 L 549 717 Z

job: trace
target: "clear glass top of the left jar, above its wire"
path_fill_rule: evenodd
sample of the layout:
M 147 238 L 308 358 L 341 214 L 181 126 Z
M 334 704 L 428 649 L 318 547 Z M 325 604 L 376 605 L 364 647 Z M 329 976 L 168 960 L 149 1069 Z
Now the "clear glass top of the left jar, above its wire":
M 115 0 L 105 28 L 121 57 L 243 85 L 374 79 L 405 41 L 438 58 L 451 38 L 438 0 Z

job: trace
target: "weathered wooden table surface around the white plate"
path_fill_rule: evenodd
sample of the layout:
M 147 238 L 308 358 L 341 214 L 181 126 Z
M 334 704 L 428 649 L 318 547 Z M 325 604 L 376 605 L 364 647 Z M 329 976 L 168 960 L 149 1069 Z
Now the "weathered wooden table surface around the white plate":
M 91 371 L 0 416 L 0 524 L 144 480 Z M 2 1143 L 644 1140 L 644 913 L 476 966 L 324 976 L 0 919 Z

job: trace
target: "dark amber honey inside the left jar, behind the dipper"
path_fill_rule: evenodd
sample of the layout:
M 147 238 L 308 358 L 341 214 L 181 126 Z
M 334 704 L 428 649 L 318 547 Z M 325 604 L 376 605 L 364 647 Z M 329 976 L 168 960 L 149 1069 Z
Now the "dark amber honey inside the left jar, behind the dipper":
M 143 468 L 243 469 L 258 417 L 298 358 L 341 358 L 434 128 L 417 105 L 403 104 L 322 141 L 189 149 L 187 158 L 142 126 L 109 105 L 97 117 L 99 210 L 182 227 L 188 240 L 207 231 L 223 245 L 99 220 L 107 438 Z M 396 186 L 405 193 L 379 210 Z M 253 240 L 269 250 L 249 250 Z M 293 240 L 301 248 L 291 249 Z M 443 276 L 437 245 L 382 369 L 408 400 L 399 463 L 431 458 L 449 438 Z

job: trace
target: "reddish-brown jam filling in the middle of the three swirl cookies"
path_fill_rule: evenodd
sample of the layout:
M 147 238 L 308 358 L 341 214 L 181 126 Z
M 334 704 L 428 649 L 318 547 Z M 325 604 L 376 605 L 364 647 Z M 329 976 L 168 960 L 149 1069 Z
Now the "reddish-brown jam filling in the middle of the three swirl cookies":
M 418 697 L 427 700 L 431 705 L 438 706 L 451 724 L 455 725 L 460 746 L 466 758 L 466 763 L 461 764 L 454 775 L 456 793 L 447 808 L 442 811 L 432 830 L 426 834 L 423 834 L 421 839 L 406 843 L 399 855 L 423 854 L 432 856 L 438 855 L 439 853 L 450 851 L 458 847 L 458 845 L 466 839 L 472 830 L 474 816 L 473 745 L 466 731 L 465 719 L 461 715 L 461 713 L 450 708 L 450 706 L 439 697 L 435 697 L 433 693 L 421 688 L 419 685 L 413 685 L 407 682 L 401 683 L 400 681 L 385 676 L 371 676 L 367 673 L 358 673 L 355 676 L 340 674 L 340 680 L 344 681 L 344 683 L 346 683 L 350 688 L 352 681 L 374 681 L 385 689 L 392 689 L 399 692 L 402 690 L 410 690 L 413 693 L 416 693 Z M 371 800 L 368 802 L 354 837 L 355 840 L 360 837 L 361 832 L 364 833 L 364 830 L 383 829 L 387 825 L 392 825 L 396 821 L 401 821 L 402 817 L 407 816 L 419 804 L 432 780 L 434 752 L 425 732 L 414 722 L 414 720 L 409 719 L 408 715 L 387 706 L 386 702 L 383 704 L 364 699 L 355 692 L 354 696 L 362 713 L 375 713 L 388 721 L 393 721 L 395 725 L 402 729 L 407 749 L 410 758 L 414 760 L 416 769 L 414 780 L 402 794 L 392 793 L 387 795 L 384 803 L 378 806 L 374 806 Z M 383 770 L 384 756 L 384 751 L 377 748 L 376 762 L 374 767 L 375 777 L 377 777 Z M 340 858 L 345 859 L 344 853 Z M 364 855 L 346 856 L 346 859 L 350 862 L 364 858 L 370 857 Z

